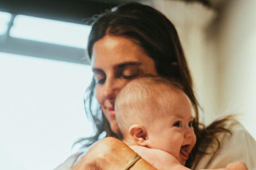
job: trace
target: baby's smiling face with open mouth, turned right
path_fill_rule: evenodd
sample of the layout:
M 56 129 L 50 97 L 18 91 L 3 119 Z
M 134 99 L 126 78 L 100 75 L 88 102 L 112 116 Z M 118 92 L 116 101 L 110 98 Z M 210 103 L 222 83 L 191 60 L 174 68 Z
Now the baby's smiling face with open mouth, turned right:
M 167 97 L 170 99 L 168 95 L 163 98 Z M 183 92 L 175 92 L 171 98 L 162 100 L 163 107 L 159 108 L 159 117 L 147 129 L 148 147 L 166 151 L 185 165 L 196 143 L 191 103 Z

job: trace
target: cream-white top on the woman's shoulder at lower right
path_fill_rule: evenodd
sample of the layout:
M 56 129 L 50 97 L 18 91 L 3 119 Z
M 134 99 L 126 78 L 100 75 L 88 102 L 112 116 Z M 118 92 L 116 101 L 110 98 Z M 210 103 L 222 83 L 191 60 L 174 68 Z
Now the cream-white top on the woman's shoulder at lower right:
M 226 128 L 232 135 L 220 135 L 221 147 L 213 154 L 204 155 L 192 169 L 224 168 L 228 163 L 242 161 L 248 169 L 256 170 L 256 142 L 238 121 L 230 121 Z M 209 149 L 209 148 L 208 148 Z

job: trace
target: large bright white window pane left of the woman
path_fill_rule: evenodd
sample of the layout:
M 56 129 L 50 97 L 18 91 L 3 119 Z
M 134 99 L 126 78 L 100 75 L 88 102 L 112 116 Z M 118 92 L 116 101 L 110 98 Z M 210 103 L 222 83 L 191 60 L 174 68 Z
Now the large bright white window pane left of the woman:
M 77 138 L 93 133 L 84 113 L 90 66 L 0 53 L 0 169 L 53 169 Z

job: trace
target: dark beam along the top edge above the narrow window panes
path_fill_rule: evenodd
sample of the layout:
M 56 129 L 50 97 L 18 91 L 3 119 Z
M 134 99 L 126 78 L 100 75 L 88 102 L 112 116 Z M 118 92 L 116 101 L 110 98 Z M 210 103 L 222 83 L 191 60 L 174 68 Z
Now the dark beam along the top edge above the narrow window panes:
M 92 18 L 93 15 L 100 14 L 115 5 L 115 3 L 89 0 L 0 0 L 0 11 L 85 24 L 85 19 Z

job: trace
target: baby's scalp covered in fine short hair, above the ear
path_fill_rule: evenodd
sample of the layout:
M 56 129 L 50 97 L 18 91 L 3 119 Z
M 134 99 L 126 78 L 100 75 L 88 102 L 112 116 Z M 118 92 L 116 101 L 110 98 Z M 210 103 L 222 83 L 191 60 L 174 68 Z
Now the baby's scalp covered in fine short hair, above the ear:
M 115 100 L 119 138 L 127 137 L 131 125 L 149 125 L 156 116 L 160 116 L 159 108 L 166 109 L 162 101 L 172 102 L 165 97 L 170 97 L 175 92 L 183 92 L 180 83 L 160 76 L 141 76 L 127 83 Z

